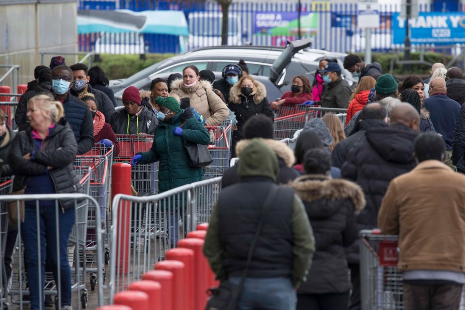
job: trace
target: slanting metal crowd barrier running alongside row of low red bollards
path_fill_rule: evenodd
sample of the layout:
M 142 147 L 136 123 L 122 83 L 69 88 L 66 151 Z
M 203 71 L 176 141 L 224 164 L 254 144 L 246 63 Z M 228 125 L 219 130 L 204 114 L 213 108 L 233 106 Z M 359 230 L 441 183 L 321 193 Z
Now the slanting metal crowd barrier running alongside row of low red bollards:
M 115 293 L 153 270 L 177 240 L 209 221 L 220 188 L 221 177 L 217 177 L 157 195 L 113 198 L 109 302 Z

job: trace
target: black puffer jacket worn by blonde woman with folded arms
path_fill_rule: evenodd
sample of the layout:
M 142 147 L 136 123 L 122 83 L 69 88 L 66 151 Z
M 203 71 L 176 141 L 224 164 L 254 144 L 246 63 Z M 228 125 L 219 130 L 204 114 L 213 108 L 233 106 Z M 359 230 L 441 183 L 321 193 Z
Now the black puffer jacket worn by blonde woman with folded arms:
M 25 177 L 40 177 L 49 173 L 55 186 L 57 194 L 70 194 L 82 192 L 79 179 L 73 170 L 73 162 L 78 150 L 78 145 L 74 139 L 74 133 L 67 125 L 55 124 L 55 127 L 44 140 L 48 141 L 45 148 L 35 151 L 34 141 L 32 140 L 32 128 L 28 127 L 25 131 L 20 131 L 16 135 L 11 145 L 10 155 L 8 157 L 10 167 L 16 178 L 24 180 Z M 34 160 L 27 160 L 23 155 L 35 151 Z M 53 169 L 47 170 L 48 166 Z M 15 183 L 13 190 L 19 189 Z M 30 181 L 29 184 L 33 184 Z M 33 192 L 33 188 L 29 188 Z M 74 200 L 61 200 L 61 206 L 64 209 L 74 206 Z

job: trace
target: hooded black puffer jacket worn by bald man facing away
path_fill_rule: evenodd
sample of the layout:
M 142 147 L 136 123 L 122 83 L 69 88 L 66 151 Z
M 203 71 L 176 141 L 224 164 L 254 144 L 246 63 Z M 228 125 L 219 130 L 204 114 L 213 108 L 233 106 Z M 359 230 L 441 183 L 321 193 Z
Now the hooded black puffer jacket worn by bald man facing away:
M 357 216 L 359 230 L 376 228 L 378 211 L 387 186 L 395 177 L 411 171 L 417 164 L 413 141 L 418 133 L 402 124 L 365 132 L 342 165 L 342 177 L 356 182 L 365 193 L 367 206 Z M 349 250 L 349 262 L 358 262 L 358 247 Z

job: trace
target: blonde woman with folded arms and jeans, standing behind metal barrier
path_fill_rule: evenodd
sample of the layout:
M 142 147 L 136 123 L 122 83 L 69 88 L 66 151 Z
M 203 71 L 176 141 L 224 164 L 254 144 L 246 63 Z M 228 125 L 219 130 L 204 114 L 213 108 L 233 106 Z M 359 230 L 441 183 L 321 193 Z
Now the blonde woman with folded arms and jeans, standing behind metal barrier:
M 47 95 L 37 95 L 28 101 L 26 117 L 30 127 L 16 134 L 8 157 L 16 176 L 14 191 L 25 187 L 25 194 L 81 192 L 73 169 L 78 145 L 73 130 L 64 124 L 63 116 L 61 102 Z M 61 304 L 58 306 L 62 310 L 70 310 L 72 279 L 67 245 L 76 220 L 75 200 L 61 199 L 58 204 L 54 200 L 43 200 L 37 204 L 26 201 L 25 205 L 20 229 L 31 310 L 44 309 L 47 261 L 51 264 L 55 283 L 60 283 Z

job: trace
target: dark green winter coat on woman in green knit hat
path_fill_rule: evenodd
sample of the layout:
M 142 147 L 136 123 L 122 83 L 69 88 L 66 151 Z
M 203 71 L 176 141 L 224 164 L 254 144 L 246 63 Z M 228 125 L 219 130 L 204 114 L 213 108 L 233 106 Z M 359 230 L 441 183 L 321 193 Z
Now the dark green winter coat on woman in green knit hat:
M 185 113 L 186 115 L 184 115 Z M 155 138 L 150 150 L 138 153 L 142 155 L 142 161 L 140 161 L 142 164 L 160 161 L 158 172 L 160 193 L 203 180 L 202 168 L 189 167 L 189 157 L 184 150 L 182 140 L 208 145 L 210 135 L 208 130 L 195 118 L 189 117 L 190 115 L 181 109 L 175 117 L 166 123 L 160 122 L 155 130 Z M 186 124 L 182 126 L 182 138 L 175 136 L 173 130 L 176 126 L 180 126 L 186 118 Z

